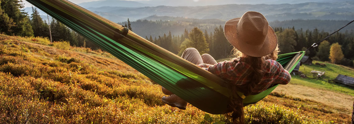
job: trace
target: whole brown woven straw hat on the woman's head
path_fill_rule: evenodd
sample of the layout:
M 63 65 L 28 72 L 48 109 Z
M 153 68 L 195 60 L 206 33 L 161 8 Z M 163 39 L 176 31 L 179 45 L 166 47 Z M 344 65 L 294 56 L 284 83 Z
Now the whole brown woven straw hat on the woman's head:
M 263 57 L 276 48 L 278 39 L 263 14 L 248 11 L 241 18 L 230 19 L 225 24 L 226 39 L 240 52 Z

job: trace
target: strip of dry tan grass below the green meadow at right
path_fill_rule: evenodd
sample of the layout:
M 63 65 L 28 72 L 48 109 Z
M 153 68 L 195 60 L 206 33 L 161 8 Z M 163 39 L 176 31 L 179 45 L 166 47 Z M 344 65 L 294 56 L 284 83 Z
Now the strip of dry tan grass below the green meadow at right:
M 341 108 L 345 111 L 345 113 L 351 113 L 353 109 L 354 96 L 338 92 L 310 88 L 303 85 L 295 85 L 291 83 L 287 85 L 279 85 L 277 88 L 275 88 L 274 91 L 295 98 L 313 100 L 329 106 Z

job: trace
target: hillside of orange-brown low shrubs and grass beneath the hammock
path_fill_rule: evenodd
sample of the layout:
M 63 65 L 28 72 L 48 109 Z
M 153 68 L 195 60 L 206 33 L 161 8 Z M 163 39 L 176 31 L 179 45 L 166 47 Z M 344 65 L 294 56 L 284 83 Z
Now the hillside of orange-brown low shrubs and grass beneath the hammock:
M 58 49 L 60 48 L 60 49 Z M 0 35 L 0 122 L 230 123 L 161 102 L 161 87 L 107 52 Z M 273 92 L 246 106 L 246 123 L 349 123 L 341 107 Z

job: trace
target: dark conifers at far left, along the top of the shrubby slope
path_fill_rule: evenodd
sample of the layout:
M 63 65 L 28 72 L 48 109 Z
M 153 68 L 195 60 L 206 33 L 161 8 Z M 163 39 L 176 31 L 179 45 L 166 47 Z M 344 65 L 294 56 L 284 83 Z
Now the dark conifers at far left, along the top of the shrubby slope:
M 71 46 L 99 48 L 85 37 L 72 31 L 56 19 L 42 19 L 37 8 L 32 8 L 32 14 L 21 10 L 22 0 L 0 1 L 0 33 L 16 36 L 48 37 L 51 41 L 67 41 Z M 48 22 L 50 21 L 50 23 Z

